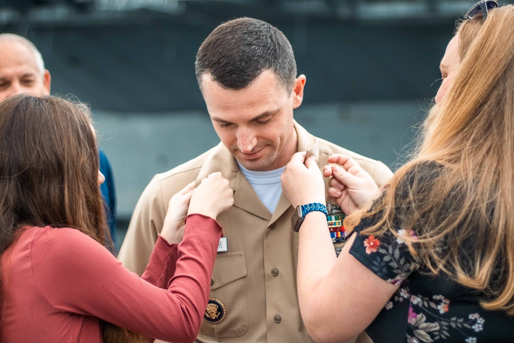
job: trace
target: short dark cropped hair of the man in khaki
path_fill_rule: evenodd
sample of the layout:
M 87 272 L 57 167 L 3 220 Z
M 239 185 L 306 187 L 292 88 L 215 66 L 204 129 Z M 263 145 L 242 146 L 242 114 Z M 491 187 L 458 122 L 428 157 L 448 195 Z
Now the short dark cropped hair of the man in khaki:
M 240 18 L 219 25 L 196 54 L 196 78 L 209 73 L 228 89 L 246 88 L 264 70 L 271 70 L 287 89 L 296 79 L 291 44 L 276 27 L 258 19 Z

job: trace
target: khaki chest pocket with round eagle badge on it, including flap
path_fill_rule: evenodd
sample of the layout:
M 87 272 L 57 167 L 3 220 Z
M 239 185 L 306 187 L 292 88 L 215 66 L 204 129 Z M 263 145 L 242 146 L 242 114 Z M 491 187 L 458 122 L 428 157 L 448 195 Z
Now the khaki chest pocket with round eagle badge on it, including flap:
M 216 256 L 211 294 L 200 335 L 237 337 L 248 330 L 246 260 L 243 251 Z M 215 300 L 212 300 L 215 299 Z

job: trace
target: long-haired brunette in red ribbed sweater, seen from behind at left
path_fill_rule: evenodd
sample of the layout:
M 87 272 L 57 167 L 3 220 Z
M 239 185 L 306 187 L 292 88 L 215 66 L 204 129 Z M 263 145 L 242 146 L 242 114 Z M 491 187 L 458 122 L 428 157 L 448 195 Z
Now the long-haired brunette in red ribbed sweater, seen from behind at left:
M 233 203 L 228 181 L 214 173 L 172 198 L 139 278 L 104 247 L 98 167 L 85 106 L 29 95 L 0 103 L 0 341 L 143 340 L 125 329 L 196 338 L 222 235 L 215 218 Z

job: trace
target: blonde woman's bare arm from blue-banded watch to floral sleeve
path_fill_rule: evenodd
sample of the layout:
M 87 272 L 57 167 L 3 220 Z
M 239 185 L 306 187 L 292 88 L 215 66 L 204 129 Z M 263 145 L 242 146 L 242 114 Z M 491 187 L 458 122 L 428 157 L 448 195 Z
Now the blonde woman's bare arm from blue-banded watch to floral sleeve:
M 350 254 L 356 234 L 336 259 L 323 213 L 309 213 L 299 233 L 298 298 L 309 334 L 317 342 L 355 337 L 375 319 L 398 285 L 376 276 Z

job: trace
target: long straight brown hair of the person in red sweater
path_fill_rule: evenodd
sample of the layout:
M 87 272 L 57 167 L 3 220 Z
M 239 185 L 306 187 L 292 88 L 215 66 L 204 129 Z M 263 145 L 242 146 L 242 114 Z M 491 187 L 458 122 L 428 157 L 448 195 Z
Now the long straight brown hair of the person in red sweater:
M 53 96 L 10 97 L 0 103 L 0 137 L 0 255 L 25 225 L 75 228 L 112 244 L 86 105 Z M 141 340 L 107 322 L 104 337 Z

